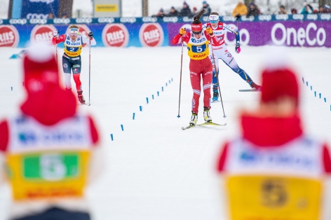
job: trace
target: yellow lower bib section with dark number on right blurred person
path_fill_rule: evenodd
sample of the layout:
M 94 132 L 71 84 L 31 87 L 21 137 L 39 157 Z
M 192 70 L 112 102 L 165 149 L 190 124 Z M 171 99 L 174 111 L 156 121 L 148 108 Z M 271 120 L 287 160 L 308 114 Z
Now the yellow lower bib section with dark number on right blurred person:
M 233 176 L 226 181 L 231 220 L 318 220 L 321 181 Z

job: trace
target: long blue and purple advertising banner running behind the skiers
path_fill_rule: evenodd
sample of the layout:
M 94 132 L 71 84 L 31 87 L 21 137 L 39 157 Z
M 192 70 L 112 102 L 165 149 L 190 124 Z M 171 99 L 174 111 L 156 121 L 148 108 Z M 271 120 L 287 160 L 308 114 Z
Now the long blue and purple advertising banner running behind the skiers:
M 238 24 L 241 45 L 331 48 L 331 14 L 310 16 L 304 20 L 304 17 L 299 15 L 290 20 L 271 18 L 265 15 L 259 18 L 264 21 L 246 20 L 238 23 L 231 18 L 222 19 L 228 25 Z M 205 23 L 208 20 L 202 21 Z M 54 29 L 65 34 L 72 24 L 80 27 L 81 34 L 93 32 L 98 47 L 173 46 L 171 41 L 181 27 L 188 31 L 191 29 L 189 18 L 0 19 L 0 47 L 22 48 L 29 41 L 51 41 Z M 234 34 L 227 33 L 225 42 L 234 45 Z M 180 45 L 179 43 L 176 46 Z M 62 44 L 59 47 L 62 47 Z

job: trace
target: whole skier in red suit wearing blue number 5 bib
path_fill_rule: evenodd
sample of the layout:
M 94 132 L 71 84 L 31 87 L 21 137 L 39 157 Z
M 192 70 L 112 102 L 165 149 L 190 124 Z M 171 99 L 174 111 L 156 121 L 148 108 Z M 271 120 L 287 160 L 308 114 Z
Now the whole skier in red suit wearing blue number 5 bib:
M 202 29 L 202 23 L 199 20 L 203 15 L 202 10 L 194 16 L 194 22 L 191 24 L 191 32 L 187 33 L 184 28 L 180 29 L 172 43 L 187 43 L 188 55 L 190 57 L 189 71 L 191 86 L 193 89 L 192 116 L 189 124 L 196 125 L 198 121 L 198 106 L 201 95 L 201 78 L 203 81 L 203 118 L 206 122 L 212 122 L 210 118 L 210 87 L 212 83 L 212 62 L 210 62 L 208 44 L 210 41 L 218 41 L 211 28 Z

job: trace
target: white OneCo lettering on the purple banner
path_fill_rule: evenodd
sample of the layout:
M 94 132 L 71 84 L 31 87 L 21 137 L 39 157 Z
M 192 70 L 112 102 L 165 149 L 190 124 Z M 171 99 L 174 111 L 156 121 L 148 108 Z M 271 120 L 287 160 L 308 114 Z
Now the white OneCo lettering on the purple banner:
M 326 41 L 326 32 L 323 27 L 318 28 L 315 23 L 311 22 L 306 29 L 300 27 L 285 27 L 281 23 L 273 25 L 271 29 L 271 40 L 276 45 L 293 45 L 304 46 L 307 43 L 309 46 L 323 46 Z

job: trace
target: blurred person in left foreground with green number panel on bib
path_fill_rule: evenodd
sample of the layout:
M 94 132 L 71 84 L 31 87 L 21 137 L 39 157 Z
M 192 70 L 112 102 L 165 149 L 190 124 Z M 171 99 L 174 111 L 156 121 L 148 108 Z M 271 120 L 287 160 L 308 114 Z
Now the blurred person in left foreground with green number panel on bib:
M 0 122 L 0 180 L 11 186 L 11 220 L 89 220 L 84 191 L 102 170 L 93 119 L 60 86 L 54 48 L 36 43 L 23 57 L 26 99 Z M 6 171 L 4 172 L 4 167 Z

